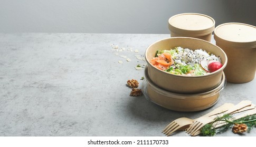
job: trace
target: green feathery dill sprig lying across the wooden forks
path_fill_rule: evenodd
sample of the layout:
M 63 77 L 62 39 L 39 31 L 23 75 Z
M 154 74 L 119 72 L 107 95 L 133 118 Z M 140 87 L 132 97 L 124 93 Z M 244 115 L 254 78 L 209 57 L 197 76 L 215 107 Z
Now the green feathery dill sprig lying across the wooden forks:
M 217 127 L 217 125 L 222 123 L 224 124 L 220 127 Z M 220 134 L 231 129 L 235 123 L 246 124 L 248 127 L 248 132 L 250 132 L 253 127 L 256 127 L 256 114 L 236 120 L 232 114 L 224 114 L 223 116 L 218 116 L 211 123 L 204 125 L 204 127 L 201 129 L 201 135 L 214 136 L 216 134 Z

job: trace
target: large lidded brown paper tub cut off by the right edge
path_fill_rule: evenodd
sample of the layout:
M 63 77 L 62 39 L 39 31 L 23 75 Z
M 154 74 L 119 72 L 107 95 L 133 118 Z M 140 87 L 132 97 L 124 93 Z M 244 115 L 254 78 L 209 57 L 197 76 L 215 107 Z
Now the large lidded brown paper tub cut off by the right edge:
M 214 30 L 214 39 L 229 59 L 224 69 L 227 81 L 252 81 L 256 71 L 256 27 L 242 23 L 221 24 Z

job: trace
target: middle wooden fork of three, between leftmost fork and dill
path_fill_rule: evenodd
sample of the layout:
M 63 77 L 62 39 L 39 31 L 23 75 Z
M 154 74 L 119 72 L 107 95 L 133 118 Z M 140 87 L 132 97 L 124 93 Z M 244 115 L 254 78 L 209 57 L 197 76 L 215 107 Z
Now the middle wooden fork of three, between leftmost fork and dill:
M 238 111 L 242 108 L 251 106 L 252 102 L 245 100 L 245 101 L 241 101 L 240 103 L 236 104 L 234 107 L 232 107 L 231 109 L 227 110 L 225 113 L 226 114 L 230 114 L 233 113 L 235 111 Z M 198 119 L 196 119 L 193 124 L 190 125 L 190 127 L 187 129 L 187 133 L 191 134 L 192 136 L 197 134 L 197 131 L 200 130 L 205 124 L 212 122 L 217 116 L 212 116 L 212 117 L 200 117 Z

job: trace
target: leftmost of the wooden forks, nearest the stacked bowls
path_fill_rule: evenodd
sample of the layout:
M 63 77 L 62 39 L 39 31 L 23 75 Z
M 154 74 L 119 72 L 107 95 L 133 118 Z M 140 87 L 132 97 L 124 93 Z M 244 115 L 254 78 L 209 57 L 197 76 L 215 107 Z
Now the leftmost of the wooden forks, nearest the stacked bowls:
M 214 109 L 213 111 L 205 114 L 205 117 L 208 116 L 213 116 L 213 115 L 217 115 L 220 114 L 222 112 L 225 112 L 227 110 L 229 110 L 230 108 L 232 108 L 234 106 L 234 104 L 232 103 L 224 103 L 222 106 Z M 175 132 L 176 130 L 184 130 L 189 128 L 189 125 L 191 125 L 194 122 L 193 119 L 189 119 L 189 118 L 178 118 L 172 122 L 170 122 L 165 129 L 163 130 L 162 133 L 164 133 L 165 135 L 169 136 L 171 135 L 173 132 Z

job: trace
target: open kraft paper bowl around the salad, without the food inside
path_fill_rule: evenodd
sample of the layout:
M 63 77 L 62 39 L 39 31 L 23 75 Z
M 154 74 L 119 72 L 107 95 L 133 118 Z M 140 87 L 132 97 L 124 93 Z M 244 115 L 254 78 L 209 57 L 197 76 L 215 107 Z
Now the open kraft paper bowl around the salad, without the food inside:
M 183 76 L 174 75 L 160 70 L 150 63 L 155 57 L 157 50 L 165 50 L 174 47 L 183 47 L 188 49 L 202 49 L 219 56 L 222 67 L 219 70 L 203 76 Z M 220 84 L 222 72 L 227 64 L 227 57 L 224 51 L 212 43 L 190 37 L 172 37 L 158 40 L 151 44 L 145 51 L 145 59 L 148 65 L 148 77 L 160 88 L 175 93 L 200 93 L 215 88 Z

